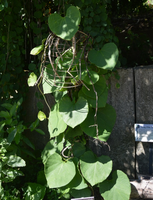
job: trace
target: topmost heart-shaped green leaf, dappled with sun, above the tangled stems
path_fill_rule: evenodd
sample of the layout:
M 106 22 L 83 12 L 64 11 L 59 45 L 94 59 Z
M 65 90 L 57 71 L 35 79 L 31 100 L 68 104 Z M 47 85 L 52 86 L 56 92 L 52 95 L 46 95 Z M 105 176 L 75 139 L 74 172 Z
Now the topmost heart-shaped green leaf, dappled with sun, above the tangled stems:
M 59 14 L 51 14 L 48 18 L 50 30 L 64 40 L 71 40 L 78 31 L 78 25 L 81 20 L 79 10 L 75 6 L 67 9 L 66 16 L 61 17 Z

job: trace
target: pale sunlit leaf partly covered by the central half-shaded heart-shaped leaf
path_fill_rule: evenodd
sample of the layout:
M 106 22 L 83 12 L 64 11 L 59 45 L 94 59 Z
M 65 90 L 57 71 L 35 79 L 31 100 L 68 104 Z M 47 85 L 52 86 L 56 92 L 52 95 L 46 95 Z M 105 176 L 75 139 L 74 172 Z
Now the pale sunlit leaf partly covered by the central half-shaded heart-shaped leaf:
M 60 133 L 63 133 L 66 127 L 67 124 L 63 121 L 59 113 L 59 104 L 57 103 L 49 114 L 48 130 L 50 138 L 58 136 Z

